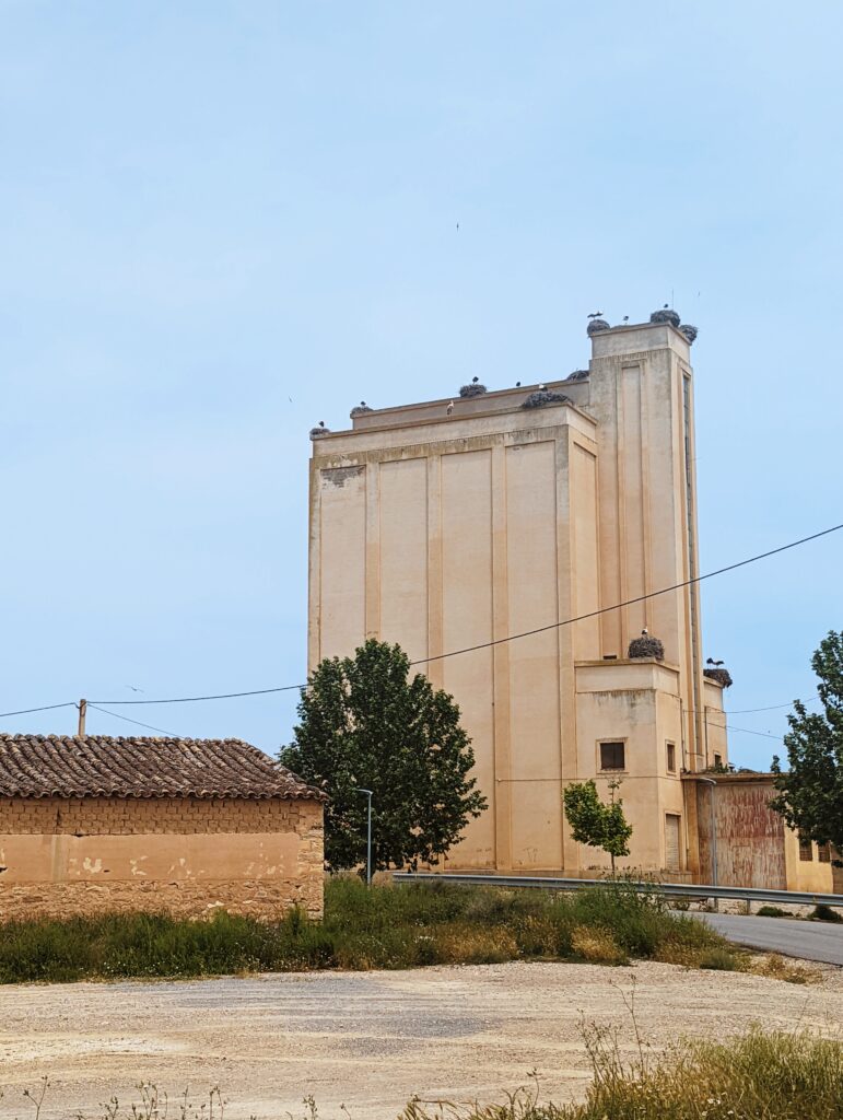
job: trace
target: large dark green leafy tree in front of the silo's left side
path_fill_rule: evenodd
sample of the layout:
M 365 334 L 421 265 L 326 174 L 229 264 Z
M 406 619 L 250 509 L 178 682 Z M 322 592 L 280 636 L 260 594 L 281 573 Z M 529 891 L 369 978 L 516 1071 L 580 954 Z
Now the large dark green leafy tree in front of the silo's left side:
M 280 760 L 321 786 L 325 860 L 331 870 L 366 861 L 366 797 L 372 790 L 372 867 L 437 864 L 487 802 L 469 776 L 471 740 L 447 692 L 397 645 L 369 638 L 354 657 L 311 673 L 293 741 Z

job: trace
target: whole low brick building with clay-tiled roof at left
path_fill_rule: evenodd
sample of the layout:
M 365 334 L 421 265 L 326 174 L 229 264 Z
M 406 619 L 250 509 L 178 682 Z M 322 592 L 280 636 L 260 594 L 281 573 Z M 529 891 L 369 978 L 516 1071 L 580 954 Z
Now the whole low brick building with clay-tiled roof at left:
M 0 918 L 318 916 L 322 802 L 238 739 L 0 735 Z

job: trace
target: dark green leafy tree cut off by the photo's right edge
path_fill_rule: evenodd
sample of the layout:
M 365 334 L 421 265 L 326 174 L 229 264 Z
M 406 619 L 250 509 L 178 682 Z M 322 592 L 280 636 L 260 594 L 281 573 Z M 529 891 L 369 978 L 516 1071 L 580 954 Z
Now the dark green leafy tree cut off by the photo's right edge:
M 811 665 L 823 710 L 795 701 L 785 736 L 789 768 L 783 772 L 774 757 L 778 796 L 771 805 L 805 839 L 843 852 L 843 631 L 828 632 Z

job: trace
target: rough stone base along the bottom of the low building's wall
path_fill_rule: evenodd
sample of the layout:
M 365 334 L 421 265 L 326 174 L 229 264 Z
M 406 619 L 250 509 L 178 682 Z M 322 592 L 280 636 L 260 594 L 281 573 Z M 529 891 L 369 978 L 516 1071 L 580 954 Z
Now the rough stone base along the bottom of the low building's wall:
M 168 913 L 210 917 L 216 911 L 275 921 L 293 906 L 322 916 L 322 875 L 309 880 L 181 883 L 34 883 L 0 885 L 0 922 L 20 918 L 93 917 L 104 913 Z

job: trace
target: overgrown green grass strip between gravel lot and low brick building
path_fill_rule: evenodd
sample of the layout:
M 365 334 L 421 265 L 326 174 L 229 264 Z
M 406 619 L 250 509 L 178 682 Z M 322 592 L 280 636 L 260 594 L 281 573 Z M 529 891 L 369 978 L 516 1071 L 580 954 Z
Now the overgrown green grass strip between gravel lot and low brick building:
M 0 924 L 2 983 L 633 958 L 708 968 L 740 960 L 702 922 L 622 883 L 563 895 L 453 884 L 367 889 L 349 877 L 326 884 L 324 922 L 293 911 L 277 923 L 217 912 L 207 921 L 106 914 Z

